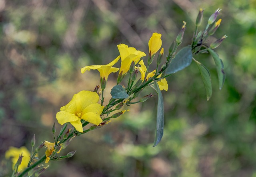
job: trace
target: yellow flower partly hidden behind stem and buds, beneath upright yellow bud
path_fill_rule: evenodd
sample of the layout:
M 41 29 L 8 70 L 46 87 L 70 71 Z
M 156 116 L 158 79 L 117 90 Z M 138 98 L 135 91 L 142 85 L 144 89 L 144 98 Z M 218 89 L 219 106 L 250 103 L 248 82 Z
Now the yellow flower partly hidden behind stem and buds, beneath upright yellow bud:
M 147 67 L 144 65 L 143 60 L 141 60 L 139 62 L 139 64 L 140 64 L 141 67 L 137 67 L 137 69 L 140 71 L 140 74 L 141 74 L 140 80 L 148 81 L 149 78 L 154 77 L 154 75 L 156 74 L 156 70 L 152 71 L 151 73 L 148 73 L 147 77 L 145 78 L 146 72 L 147 72 Z M 159 77 L 161 77 L 161 75 L 159 75 L 158 78 Z M 168 90 L 168 83 L 167 83 L 165 78 L 161 79 L 157 83 L 158 83 L 158 86 L 159 86 L 160 90 L 166 90 L 166 91 Z

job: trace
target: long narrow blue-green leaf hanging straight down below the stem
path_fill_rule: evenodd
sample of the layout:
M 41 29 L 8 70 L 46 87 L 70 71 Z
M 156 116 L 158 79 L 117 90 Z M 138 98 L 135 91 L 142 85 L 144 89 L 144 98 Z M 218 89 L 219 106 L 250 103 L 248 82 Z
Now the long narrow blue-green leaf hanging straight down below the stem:
M 156 81 L 154 82 L 155 83 L 151 86 L 156 90 L 158 94 L 158 102 L 157 102 L 157 114 L 156 114 L 156 135 L 155 135 L 153 147 L 158 145 L 158 143 L 161 141 L 164 134 L 164 99 L 157 82 Z

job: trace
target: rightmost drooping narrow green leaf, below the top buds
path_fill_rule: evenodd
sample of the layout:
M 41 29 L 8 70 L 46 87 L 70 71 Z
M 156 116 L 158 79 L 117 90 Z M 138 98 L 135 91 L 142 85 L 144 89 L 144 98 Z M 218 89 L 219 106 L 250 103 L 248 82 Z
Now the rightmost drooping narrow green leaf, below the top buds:
M 214 50 L 212 50 L 211 48 L 208 48 L 208 51 L 214 59 L 217 73 L 218 73 L 219 88 L 221 90 L 226 79 L 226 73 L 224 72 L 224 64 L 220 59 L 219 55 Z

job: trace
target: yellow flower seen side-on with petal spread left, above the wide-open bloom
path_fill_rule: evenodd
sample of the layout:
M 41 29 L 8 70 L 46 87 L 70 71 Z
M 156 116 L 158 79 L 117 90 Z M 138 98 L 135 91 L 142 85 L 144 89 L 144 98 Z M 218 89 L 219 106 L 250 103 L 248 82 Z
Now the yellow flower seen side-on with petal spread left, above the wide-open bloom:
M 119 70 L 119 68 L 112 67 L 114 64 L 118 62 L 119 59 L 120 56 L 118 56 L 116 59 L 114 59 L 107 65 L 91 65 L 83 67 L 81 69 L 81 73 L 84 73 L 85 71 L 90 71 L 91 69 L 97 69 L 100 72 L 100 77 L 102 79 L 105 77 L 105 79 L 108 80 L 108 75 L 110 75 L 110 73 L 115 73 Z

